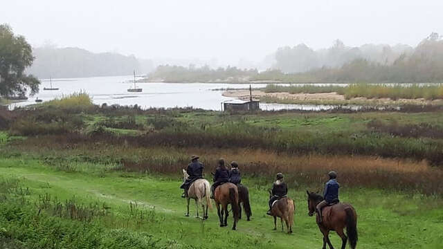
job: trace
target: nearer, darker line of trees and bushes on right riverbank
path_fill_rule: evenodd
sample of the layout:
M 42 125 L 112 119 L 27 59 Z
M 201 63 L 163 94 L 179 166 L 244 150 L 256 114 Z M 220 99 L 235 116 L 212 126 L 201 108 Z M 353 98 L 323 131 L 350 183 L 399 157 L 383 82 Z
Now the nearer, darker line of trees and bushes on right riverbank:
M 150 74 L 150 78 L 166 82 L 443 82 L 443 40 L 439 39 L 438 34 L 433 33 L 416 48 L 401 53 L 395 59 L 392 56 L 386 55 L 384 62 L 380 62 L 355 54 L 352 60 L 343 62 L 342 66 L 323 66 L 303 73 L 284 73 L 282 68 L 278 68 L 279 60 L 276 69 L 260 73 L 235 67 L 211 69 L 208 66 L 159 66 Z M 292 59 L 294 65 L 299 63 L 299 58 Z M 291 61 L 291 57 L 288 60 Z

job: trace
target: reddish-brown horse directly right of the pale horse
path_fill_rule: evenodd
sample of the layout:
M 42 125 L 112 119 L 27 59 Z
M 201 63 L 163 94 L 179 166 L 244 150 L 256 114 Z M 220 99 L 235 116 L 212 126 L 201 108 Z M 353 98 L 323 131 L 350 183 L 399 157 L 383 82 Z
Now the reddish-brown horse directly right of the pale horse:
M 233 230 L 235 230 L 237 228 L 237 221 L 239 216 L 239 198 L 237 186 L 233 183 L 224 183 L 222 185 L 219 185 L 215 189 L 214 197 L 215 205 L 217 205 L 217 214 L 220 219 L 220 227 L 228 225 L 228 204 L 230 204 L 234 215 Z

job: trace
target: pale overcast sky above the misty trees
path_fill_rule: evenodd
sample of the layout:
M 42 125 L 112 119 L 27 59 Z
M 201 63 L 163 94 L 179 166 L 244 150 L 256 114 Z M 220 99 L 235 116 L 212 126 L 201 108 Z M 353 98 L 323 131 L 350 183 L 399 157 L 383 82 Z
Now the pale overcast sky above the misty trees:
M 8 23 L 34 46 L 143 58 L 259 61 L 279 46 L 409 44 L 443 33 L 442 0 L 2 0 Z

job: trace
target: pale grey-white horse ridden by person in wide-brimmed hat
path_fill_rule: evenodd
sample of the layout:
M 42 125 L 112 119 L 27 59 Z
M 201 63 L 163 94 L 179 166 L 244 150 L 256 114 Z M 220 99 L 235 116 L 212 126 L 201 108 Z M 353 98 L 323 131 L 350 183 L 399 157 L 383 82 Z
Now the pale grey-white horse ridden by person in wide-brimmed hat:
M 188 178 L 188 173 L 185 169 L 183 169 L 183 183 L 186 181 L 186 178 Z M 190 199 L 195 200 L 196 210 L 197 210 L 197 216 L 199 217 L 199 205 L 201 205 L 201 208 L 203 208 L 203 219 L 208 219 L 208 208 L 212 208 L 212 205 L 210 203 L 210 183 L 206 179 L 197 179 L 193 183 L 191 183 L 189 190 L 188 190 L 188 197 L 186 197 L 186 203 L 187 203 L 187 212 L 186 216 L 189 216 L 189 202 Z M 204 202 L 204 199 L 206 201 Z

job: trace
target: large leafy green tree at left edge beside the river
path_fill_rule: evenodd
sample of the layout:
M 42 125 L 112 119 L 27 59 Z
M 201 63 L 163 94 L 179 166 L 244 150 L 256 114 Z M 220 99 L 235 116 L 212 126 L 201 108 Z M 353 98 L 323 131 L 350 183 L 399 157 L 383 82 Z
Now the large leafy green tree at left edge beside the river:
M 14 35 L 8 24 L 0 25 L 0 95 L 33 95 L 39 91 L 39 80 L 26 75 L 34 61 L 33 48 L 25 37 Z

